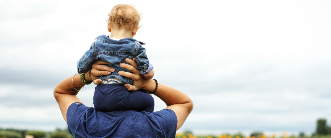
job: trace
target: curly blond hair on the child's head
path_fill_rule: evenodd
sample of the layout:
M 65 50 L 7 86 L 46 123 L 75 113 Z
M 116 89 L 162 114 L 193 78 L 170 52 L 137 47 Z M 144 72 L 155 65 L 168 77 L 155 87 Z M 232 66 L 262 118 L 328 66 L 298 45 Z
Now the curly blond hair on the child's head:
M 108 13 L 109 18 L 108 23 L 112 26 L 118 26 L 119 28 L 129 27 L 133 29 L 138 29 L 140 22 L 140 15 L 133 4 L 118 4 L 114 6 L 110 13 Z

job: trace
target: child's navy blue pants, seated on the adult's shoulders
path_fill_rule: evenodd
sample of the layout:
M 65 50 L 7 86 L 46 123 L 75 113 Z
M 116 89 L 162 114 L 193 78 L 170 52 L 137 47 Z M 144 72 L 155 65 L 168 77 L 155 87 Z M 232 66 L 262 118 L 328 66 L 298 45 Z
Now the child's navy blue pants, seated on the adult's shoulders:
M 140 110 L 154 112 L 154 98 L 141 91 L 128 91 L 123 84 L 100 84 L 95 87 L 93 104 L 95 110 L 111 112 Z

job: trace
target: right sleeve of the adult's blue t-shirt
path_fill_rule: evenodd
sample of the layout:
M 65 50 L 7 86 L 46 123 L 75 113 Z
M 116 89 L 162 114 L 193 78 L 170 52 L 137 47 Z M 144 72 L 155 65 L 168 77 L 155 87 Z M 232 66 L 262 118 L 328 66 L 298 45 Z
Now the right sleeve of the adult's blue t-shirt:
M 171 109 L 163 109 L 161 111 L 151 113 L 154 115 L 157 122 L 163 127 L 166 138 L 174 138 L 177 129 L 177 116 Z

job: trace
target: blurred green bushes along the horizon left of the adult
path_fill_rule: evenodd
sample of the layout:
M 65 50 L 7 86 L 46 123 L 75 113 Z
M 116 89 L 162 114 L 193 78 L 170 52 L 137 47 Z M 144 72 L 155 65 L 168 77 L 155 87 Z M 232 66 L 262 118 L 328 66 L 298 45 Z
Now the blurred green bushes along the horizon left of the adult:
M 26 135 L 33 136 L 34 138 L 73 138 L 73 136 L 69 133 L 68 128 L 57 128 L 54 132 L 0 128 L 0 138 L 25 138 Z

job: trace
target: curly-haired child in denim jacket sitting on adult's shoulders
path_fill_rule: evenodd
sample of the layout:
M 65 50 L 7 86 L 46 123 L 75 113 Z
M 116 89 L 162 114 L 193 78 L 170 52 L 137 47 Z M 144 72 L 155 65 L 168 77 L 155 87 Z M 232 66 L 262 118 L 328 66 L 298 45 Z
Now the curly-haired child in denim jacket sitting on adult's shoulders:
M 154 76 L 153 65 L 149 64 L 146 49 L 141 46 L 145 43 L 133 39 L 139 28 L 140 14 L 133 5 L 119 4 L 108 16 L 110 37 L 101 35 L 95 38 L 91 48 L 77 62 L 78 73 L 90 73 L 95 60 L 112 63 L 113 65 L 107 66 L 115 69 L 110 75 L 98 77 L 103 82 L 95 87 L 94 108 L 107 112 L 127 109 L 153 112 L 153 97 L 141 91 L 128 91 L 124 84 L 132 85 L 133 81 L 118 75 L 118 71 L 130 72 L 119 67 L 119 63 L 127 63 L 125 58 L 136 58 L 140 73 L 146 79 Z

